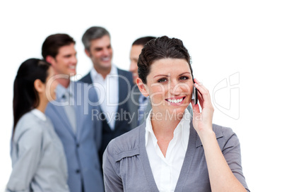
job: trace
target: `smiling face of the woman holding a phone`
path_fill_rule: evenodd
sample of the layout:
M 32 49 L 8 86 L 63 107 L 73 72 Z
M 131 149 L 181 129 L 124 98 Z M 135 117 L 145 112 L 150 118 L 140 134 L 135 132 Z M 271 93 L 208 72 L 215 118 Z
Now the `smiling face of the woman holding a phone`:
M 191 102 L 193 80 L 185 59 L 154 61 L 146 85 L 154 113 L 184 113 Z

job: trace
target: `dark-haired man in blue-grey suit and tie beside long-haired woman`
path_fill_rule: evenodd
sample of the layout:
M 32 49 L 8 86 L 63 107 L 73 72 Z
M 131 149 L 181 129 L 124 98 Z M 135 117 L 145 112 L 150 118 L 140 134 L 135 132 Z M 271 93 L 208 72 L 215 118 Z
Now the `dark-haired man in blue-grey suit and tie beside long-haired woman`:
M 70 191 L 103 192 L 98 157 L 102 122 L 93 116 L 100 108 L 94 88 L 70 80 L 76 75 L 76 53 L 75 41 L 67 34 L 49 35 L 42 44 L 42 56 L 54 68 L 59 83 L 57 100 L 49 102 L 45 113 L 64 146 Z

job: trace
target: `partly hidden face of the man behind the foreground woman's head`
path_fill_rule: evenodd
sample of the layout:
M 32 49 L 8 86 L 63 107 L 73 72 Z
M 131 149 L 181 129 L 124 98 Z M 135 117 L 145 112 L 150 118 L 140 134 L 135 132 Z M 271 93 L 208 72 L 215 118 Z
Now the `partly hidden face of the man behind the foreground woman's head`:
M 141 50 L 143 48 L 143 45 L 133 45 L 131 47 L 130 51 L 130 66 L 129 66 L 129 71 L 132 73 L 133 77 L 133 82 L 134 85 L 136 84 L 136 79 L 138 78 L 138 66 L 137 66 L 137 61 L 139 58 L 139 55 L 141 53 Z

